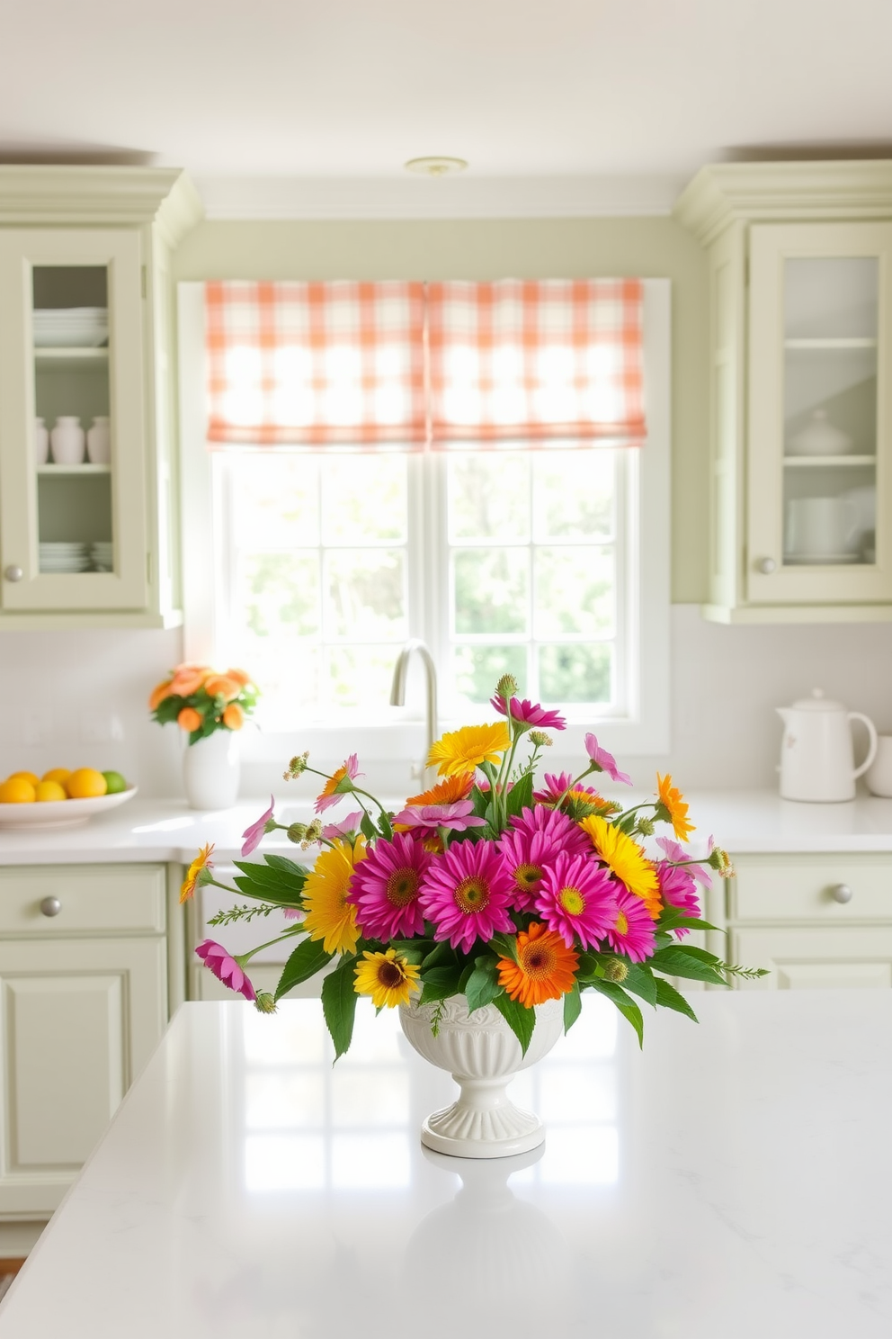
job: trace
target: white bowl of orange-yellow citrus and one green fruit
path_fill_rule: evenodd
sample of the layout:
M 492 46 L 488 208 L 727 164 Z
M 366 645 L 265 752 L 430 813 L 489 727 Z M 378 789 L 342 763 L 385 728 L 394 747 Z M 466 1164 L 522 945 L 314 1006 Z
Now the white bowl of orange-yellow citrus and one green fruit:
M 0 828 L 79 828 L 136 794 L 119 771 L 51 767 L 43 777 L 13 771 L 0 781 Z

